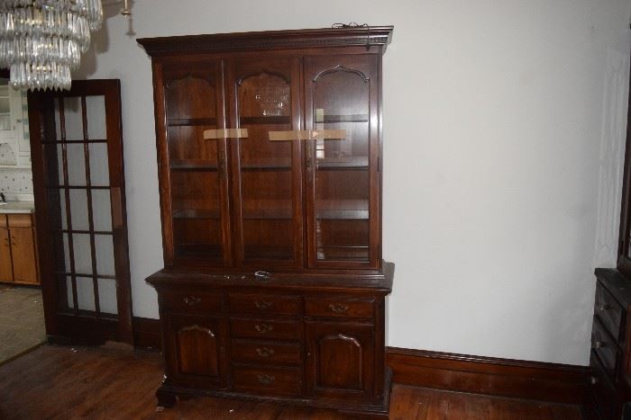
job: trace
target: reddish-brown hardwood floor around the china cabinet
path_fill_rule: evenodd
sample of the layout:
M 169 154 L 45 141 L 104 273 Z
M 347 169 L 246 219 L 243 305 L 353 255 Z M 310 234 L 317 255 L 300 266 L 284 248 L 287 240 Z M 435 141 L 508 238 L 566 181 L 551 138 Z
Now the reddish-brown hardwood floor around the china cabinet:
M 0 366 L 2 419 L 342 420 L 327 410 L 196 398 L 156 411 L 159 353 L 45 345 Z M 581 419 L 575 406 L 395 385 L 391 420 Z

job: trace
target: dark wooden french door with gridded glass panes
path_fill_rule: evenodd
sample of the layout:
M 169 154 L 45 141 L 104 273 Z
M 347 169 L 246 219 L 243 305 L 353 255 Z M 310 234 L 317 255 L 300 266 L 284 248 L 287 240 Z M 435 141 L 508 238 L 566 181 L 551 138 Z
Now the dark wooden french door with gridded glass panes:
M 47 334 L 132 344 L 120 82 L 28 101 Z

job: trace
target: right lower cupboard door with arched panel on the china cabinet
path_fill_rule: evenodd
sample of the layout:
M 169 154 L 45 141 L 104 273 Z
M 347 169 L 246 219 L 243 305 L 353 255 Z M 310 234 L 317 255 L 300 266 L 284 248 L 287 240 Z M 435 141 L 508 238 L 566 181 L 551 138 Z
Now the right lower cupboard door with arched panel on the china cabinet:
M 375 373 L 374 326 L 343 322 L 306 324 L 306 384 L 310 395 L 365 401 Z

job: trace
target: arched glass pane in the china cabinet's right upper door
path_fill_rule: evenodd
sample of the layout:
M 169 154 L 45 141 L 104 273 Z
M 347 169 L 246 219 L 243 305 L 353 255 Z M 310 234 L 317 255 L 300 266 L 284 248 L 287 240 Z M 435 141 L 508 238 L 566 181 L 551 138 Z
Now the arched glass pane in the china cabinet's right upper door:
M 338 68 L 313 86 L 315 249 L 320 261 L 370 259 L 370 85 Z

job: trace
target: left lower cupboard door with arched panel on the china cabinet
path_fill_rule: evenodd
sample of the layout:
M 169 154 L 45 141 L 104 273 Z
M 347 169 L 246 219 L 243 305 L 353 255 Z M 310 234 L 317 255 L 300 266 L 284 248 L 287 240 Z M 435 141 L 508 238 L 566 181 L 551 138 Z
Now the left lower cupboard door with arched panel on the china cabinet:
M 221 319 L 170 314 L 167 326 L 167 377 L 187 386 L 225 386 L 225 323 Z

